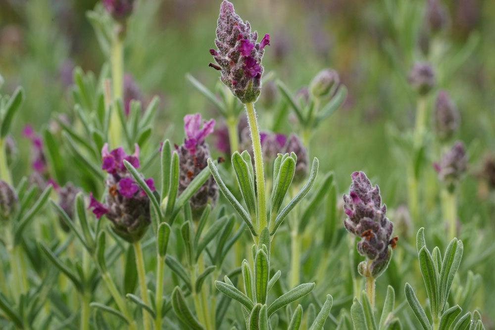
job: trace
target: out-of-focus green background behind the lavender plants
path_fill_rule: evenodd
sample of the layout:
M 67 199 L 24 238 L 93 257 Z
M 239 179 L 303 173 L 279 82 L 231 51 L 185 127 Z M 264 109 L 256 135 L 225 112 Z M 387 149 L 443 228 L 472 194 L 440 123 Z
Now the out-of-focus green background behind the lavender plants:
M 72 68 L 80 66 L 98 74 L 105 61 L 86 18 L 97 2 L 0 2 L 2 94 L 10 94 L 18 85 L 26 91 L 14 127 L 20 150 L 15 181 L 30 166 L 29 141 L 20 138 L 22 127 L 30 123 L 40 130 L 55 115 L 70 115 Z M 167 131 L 172 141 L 180 143 L 186 113 L 219 117 L 185 79 L 191 73 L 210 88 L 218 81 L 217 72 L 208 68 L 212 60 L 208 49 L 214 46 L 219 3 L 138 1 L 129 22 L 125 71 L 132 74 L 145 99 L 154 94 L 161 97 L 156 140 Z M 406 201 L 405 160 L 395 153 L 391 138 L 391 131 L 407 134 L 414 124 L 415 95 L 405 77 L 415 61 L 431 62 L 438 84 L 428 99 L 428 118 L 437 91 L 445 89 L 460 111 L 457 138 L 466 143 L 470 157 L 459 197 L 460 222 L 464 228 L 485 232 L 485 238 L 493 237 L 494 195 L 480 188 L 478 173 L 483 156 L 495 153 L 495 1 L 444 1 L 446 26 L 436 34 L 428 30 L 427 1 L 239 0 L 234 4 L 259 34 L 270 33 L 265 72 L 273 71 L 291 90 L 307 85 L 323 68 L 339 72 L 348 89 L 347 101 L 319 126 L 310 153 L 320 158 L 323 170 L 335 171 L 340 191 L 347 189 L 352 171 L 366 171 L 380 184 L 391 208 Z M 262 129 L 269 127 L 269 111 L 258 107 Z M 291 127 L 288 122 L 283 133 L 290 133 Z M 438 159 L 438 155 L 429 156 L 430 162 Z M 436 180 L 432 167 L 427 167 L 425 185 Z M 439 215 L 432 212 L 427 217 L 424 223 L 431 224 Z M 469 249 L 468 242 L 465 250 Z M 483 251 L 471 249 L 470 253 Z M 489 307 L 495 306 L 490 293 L 495 288 L 494 265 L 478 263 L 470 269 L 484 277 L 488 288 L 480 295 L 485 300 L 483 312 L 493 318 Z

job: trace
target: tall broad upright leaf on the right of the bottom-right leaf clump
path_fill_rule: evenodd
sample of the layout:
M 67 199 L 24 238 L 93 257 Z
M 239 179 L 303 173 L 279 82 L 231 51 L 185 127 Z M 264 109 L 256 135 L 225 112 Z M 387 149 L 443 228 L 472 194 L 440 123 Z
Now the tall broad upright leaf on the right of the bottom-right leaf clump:
M 457 240 L 457 238 L 453 238 L 446 248 L 440 271 L 440 295 L 442 298 L 442 305 L 440 307 L 443 307 L 447 301 L 450 286 L 461 263 L 463 250 L 462 241 Z

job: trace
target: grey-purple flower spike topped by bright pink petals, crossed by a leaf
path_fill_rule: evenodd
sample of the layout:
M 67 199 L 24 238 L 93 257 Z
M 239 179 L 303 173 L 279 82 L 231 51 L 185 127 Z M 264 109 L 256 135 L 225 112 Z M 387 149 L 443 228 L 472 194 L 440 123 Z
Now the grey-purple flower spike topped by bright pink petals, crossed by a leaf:
M 199 113 L 184 117 L 184 131 L 186 138 L 184 143 L 176 146 L 180 159 L 179 194 L 181 194 L 193 181 L 193 179 L 207 166 L 210 157 L 208 144 L 204 141 L 213 133 L 215 120 L 202 122 Z M 191 197 L 191 206 L 200 210 L 209 202 L 215 203 L 218 198 L 218 189 L 212 177 L 198 189 Z

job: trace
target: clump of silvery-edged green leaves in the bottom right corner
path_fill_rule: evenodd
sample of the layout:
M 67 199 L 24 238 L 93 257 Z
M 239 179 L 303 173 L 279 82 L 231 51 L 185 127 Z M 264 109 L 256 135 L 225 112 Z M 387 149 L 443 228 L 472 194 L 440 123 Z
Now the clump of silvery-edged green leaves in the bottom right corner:
M 428 250 L 425 241 L 424 228 L 418 231 L 416 237 L 419 266 L 426 292 L 428 294 L 429 313 L 419 302 L 416 293 L 409 283 L 405 284 L 405 296 L 414 315 L 424 330 L 473 330 L 485 329 L 478 311 L 458 317 L 462 309 L 459 305 L 449 306 L 448 297 L 455 273 L 462 259 L 463 244 L 453 238 L 448 244 L 444 255 L 435 247 Z

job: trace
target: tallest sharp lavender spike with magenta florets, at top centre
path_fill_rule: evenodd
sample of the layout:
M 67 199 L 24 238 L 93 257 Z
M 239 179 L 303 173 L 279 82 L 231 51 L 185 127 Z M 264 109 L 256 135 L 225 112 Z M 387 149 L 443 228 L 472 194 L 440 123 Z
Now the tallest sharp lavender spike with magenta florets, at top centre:
M 261 75 L 264 47 L 270 45 L 270 35 L 265 34 L 258 43 L 258 34 L 251 32 L 249 22 L 244 22 L 234 11 L 234 5 L 223 0 L 220 5 L 215 45 L 210 49 L 216 64 L 210 66 L 221 71 L 220 80 L 243 103 L 254 102 L 261 92 Z

